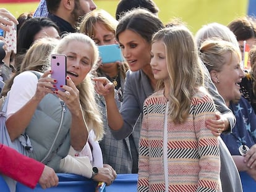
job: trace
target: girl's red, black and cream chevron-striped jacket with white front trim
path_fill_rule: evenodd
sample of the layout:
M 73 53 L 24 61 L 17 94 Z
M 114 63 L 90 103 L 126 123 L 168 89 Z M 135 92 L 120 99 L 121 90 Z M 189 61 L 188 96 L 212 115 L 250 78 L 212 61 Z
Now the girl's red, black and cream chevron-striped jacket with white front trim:
M 205 126 L 207 119 L 215 118 L 213 100 L 205 93 L 197 93 L 191 99 L 185 123 L 174 124 L 168 117 L 164 145 L 167 102 L 161 90 L 143 105 L 138 191 L 221 191 L 218 140 Z

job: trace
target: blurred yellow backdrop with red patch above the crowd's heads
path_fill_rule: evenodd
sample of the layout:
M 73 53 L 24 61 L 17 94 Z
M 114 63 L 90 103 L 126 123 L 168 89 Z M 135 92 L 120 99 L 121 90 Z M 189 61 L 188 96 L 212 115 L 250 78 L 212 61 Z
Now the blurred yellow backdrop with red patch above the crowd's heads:
M 119 0 L 94 0 L 98 9 L 115 15 Z M 40 0 L 0 0 L 0 7 L 19 17 L 23 12 L 33 12 Z M 256 15 L 256 0 L 154 0 L 159 7 L 158 16 L 164 23 L 173 18 L 186 22 L 195 33 L 202 25 L 218 22 L 227 25 L 242 15 Z

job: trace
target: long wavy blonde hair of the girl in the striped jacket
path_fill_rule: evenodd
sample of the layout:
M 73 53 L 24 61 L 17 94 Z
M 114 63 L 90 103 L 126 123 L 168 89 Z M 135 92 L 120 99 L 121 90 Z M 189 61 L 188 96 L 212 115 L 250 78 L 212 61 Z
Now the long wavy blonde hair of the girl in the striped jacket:
M 183 25 L 164 28 L 153 35 L 152 43 L 163 41 L 169 74 L 169 117 L 174 123 L 185 122 L 191 99 L 203 86 L 203 70 L 192 33 Z M 164 88 L 158 81 L 156 90 Z

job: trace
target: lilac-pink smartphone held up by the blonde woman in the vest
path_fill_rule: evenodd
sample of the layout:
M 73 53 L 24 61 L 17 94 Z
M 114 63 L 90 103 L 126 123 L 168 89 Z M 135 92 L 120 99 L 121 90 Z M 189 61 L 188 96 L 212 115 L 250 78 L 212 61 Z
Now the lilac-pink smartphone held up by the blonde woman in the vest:
M 66 76 L 67 76 L 67 57 L 63 54 L 51 54 L 51 78 L 57 80 L 57 83 L 54 83 L 56 88 L 61 91 L 65 91 L 61 88 L 61 85 L 67 85 Z

